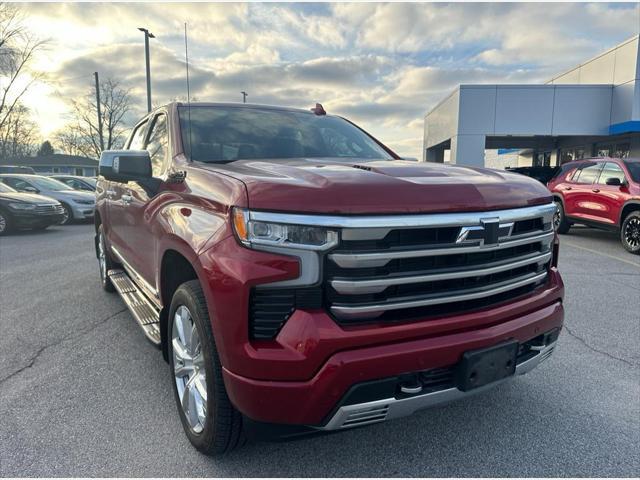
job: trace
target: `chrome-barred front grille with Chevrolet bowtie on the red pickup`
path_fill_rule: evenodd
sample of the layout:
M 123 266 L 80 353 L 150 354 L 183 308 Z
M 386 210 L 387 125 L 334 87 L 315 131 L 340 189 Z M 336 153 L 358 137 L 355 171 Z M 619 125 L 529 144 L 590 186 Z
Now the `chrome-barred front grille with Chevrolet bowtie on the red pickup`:
M 339 323 L 354 324 L 467 311 L 530 292 L 547 276 L 554 211 L 550 204 L 345 226 L 325 260 L 326 304 Z

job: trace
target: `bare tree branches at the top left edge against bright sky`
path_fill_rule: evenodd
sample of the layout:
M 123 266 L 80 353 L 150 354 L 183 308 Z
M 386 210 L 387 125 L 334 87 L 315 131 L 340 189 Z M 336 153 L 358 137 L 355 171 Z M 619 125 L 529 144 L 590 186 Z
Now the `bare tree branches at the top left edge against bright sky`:
M 0 130 L 24 94 L 41 78 L 31 63 L 44 45 L 24 28 L 14 5 L 0 3 Z

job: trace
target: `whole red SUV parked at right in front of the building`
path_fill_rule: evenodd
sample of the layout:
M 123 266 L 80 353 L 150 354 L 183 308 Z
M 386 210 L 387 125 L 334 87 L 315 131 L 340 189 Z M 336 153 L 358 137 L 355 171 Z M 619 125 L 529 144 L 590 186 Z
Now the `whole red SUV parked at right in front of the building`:
M 565 164 L 549 181 L 567 233 L 574 223 L 620 232 L 622 245 L 640 254 L 640 159 L 591 158 Z

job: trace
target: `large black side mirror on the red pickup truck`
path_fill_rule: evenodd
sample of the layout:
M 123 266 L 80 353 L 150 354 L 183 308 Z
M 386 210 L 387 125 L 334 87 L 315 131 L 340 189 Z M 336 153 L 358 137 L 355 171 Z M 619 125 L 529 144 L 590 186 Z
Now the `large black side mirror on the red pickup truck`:
M 144 181 L 151 178 L 151 157 L 146 150 L 105 150 L 98 172 L 113 182 Z

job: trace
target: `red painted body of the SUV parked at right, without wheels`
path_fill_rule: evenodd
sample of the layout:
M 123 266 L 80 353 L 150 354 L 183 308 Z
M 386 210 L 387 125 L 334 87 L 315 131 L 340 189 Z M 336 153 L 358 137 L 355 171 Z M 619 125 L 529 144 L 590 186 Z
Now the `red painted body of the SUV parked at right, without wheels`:
M 585 162 L 615 163 L 622 169 L 626 185 L 606 185 L 596 178 L 593 183 L 572 180 L 576 169 Z M 552 179 L 549 190 L 562 200 L 565 214 L 573 220 L 584 220 L 603 227 L 620 227 L 621 213 L 629 202 L 640 204 L 640 183 L 634 181 L 625 163 L 618 158 L 594 158 L 572 162 L 561 175 Z M 573 165 L 573 168 L 571 168 Z

